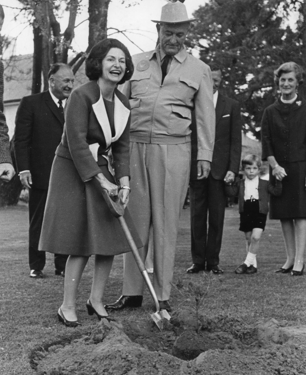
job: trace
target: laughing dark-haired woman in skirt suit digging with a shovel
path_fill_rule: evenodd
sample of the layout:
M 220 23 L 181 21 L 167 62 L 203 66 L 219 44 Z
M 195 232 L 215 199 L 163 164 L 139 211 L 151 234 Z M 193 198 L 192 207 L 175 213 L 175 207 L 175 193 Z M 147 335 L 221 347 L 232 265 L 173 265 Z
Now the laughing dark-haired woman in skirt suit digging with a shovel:
M 65 106 L 65 127 L 56 150 L 39 249 L 68 254 L 64 299 L 57 316 L 67 327 L 80 325 L 77 289 L 84 267 L 95 256 L 93 281 L 86 307 L 89 315 L 107 318 L 104 288 L 113 257 L 130 251 L 118 220 L 103 198 L 119 195 L 126 207 L 130 193 L 130 105 L 117 89 L 129 80 L 133 63 L 116 39 L 93 46 L 86 59 L 90 82 L 75 89 Z M 142 247 L 130 215 L 125 220 Z

